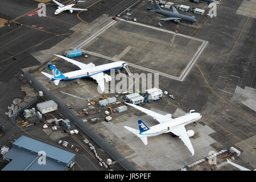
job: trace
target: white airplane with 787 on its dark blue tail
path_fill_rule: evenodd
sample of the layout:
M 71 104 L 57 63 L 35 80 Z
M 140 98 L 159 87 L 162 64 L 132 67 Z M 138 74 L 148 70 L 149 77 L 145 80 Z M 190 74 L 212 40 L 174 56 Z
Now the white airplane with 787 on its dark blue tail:
M 142 120 L 139 120 L 139 130 L 124 126 L 127 130 L 131 131 L 131 133 L 135 134 L 135 137 L 139 137 L 145 145 L 147 145 L 147 137 L 171 132 L 177 135 L 184 142 L 192 155 L 195 154 L 192 143 L 189 139 L 189 137 L 192 137 L 195 132 L 193 130 L 187 131 L 185 129 L 185 125 L 198 121 L 202 117 L 201 114 L 196 113 L 195 110 L 191 110 L 188 114 L 173 119 L 171 114 L 162 115 L 134 104 L 126 104 L 141 110 L 143 113 L 150 115 L 159 122 L 158 125 L 148 127 Z

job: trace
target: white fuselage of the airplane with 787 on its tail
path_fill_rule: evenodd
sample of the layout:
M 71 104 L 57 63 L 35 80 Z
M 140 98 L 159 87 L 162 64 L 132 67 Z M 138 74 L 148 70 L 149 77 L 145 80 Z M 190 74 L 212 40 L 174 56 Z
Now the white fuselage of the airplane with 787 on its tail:
M 163 123 L 160 123 L 158 125 L 151 126 L 149 130 L 144 131 L 142 133 L 139 133 L 139 135 L 147 135 L 147 137 L 154 137 L 156 135 L 160 135 L 163 133 L 170 133 L 172 132 L 172 129 L 175 129 L 175 127 L 181 126 L 181 125 L 188 125 L 189 123 L 196 122 L 201 118 L 201 114 L 199 113 L 190 113 L 183 115 L 179 118 L 171 119 L 170 121 L 166 121 Z

